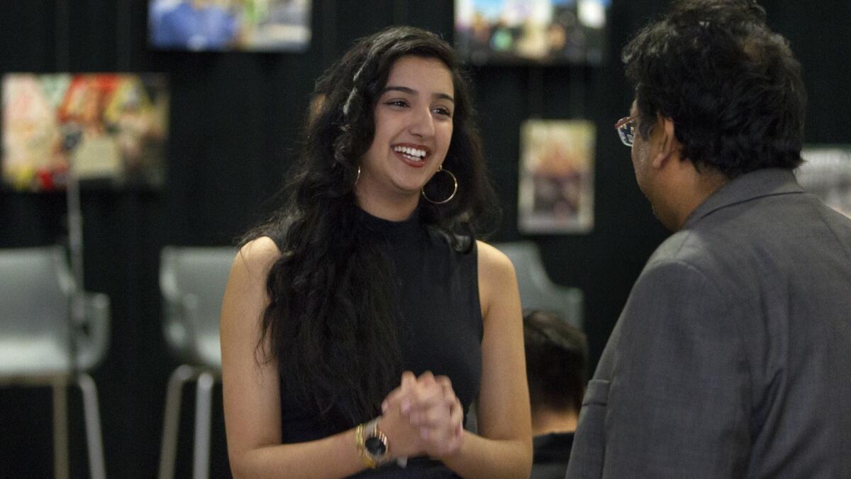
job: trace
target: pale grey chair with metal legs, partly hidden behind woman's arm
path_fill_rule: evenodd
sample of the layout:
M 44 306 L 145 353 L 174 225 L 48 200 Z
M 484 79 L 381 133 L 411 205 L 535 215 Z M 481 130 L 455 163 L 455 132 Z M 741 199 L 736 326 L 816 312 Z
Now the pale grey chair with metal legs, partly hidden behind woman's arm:
M 208 477 L 213 386 L 221 378 L 219 315 L 236 250 L 166 246 L 160 255 L 163 332 L 183 363 L 168 379 L 160 479 L 174 476 L 183 385 L 197 380 L 192 476 Z

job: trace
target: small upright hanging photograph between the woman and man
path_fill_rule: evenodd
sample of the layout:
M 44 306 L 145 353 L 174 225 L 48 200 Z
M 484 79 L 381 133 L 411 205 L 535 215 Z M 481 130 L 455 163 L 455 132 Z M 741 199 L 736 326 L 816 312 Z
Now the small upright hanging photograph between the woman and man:
M 581 234 L 594 226 L 595 127 L 528 120 L 520 132 L 517 226 L 528 234 Z

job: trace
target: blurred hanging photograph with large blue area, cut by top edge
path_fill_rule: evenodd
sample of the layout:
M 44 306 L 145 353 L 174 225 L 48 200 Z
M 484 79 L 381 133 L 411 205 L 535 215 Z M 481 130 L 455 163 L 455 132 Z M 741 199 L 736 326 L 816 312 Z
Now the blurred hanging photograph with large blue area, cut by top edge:
M 157 49 L 304 51 L 310 0 L 149 0 L 148 37 Z

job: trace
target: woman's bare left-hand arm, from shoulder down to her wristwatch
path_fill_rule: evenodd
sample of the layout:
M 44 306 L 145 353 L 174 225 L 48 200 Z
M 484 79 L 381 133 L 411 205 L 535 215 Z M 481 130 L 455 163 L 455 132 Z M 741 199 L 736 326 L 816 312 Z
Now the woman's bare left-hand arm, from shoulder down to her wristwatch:
M 227 449 L 234 477 L 340 477 L 363 469 L 354 430 L 281 444 L 277 361 L 262 349 L 266 275 L 280 256 L 269 238 L 243 246 L 231 267 L 220 320 Z M 328 460 L 333 458 L 334 460 Z

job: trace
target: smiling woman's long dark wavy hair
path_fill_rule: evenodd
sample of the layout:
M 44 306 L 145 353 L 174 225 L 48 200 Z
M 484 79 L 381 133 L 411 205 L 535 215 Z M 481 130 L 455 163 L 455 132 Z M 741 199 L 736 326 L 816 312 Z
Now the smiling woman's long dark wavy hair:
M 469 83 L 448 43 L 407 26 L 357 41 L 319 78 L 319 101 L 311 106 L 300 158 L 284 188 L 287 203 L 244 239 L 270 236 L 281 250 L 266 282 L 271 303 L 260 343 L 271 340 L 267 359 L 277 357 L 293 394 L 338 428 L 380 413 L 402 372 L 395 284 L 363 224 L 354 185 L 373 141 L 380 91 L 394 62 L 409 55 L 442 61 L 454 83 L 454 128 L 443 168 L 457 177 L 458 192 L 445 205 L 420 199 L 419 214 L 455 251 L 471 251 L 477 234 L 495 224 L 498 208 Z

